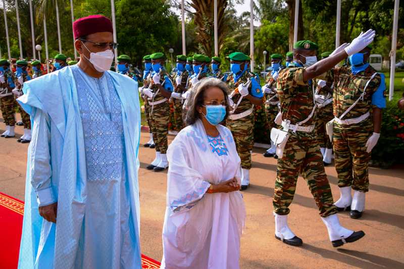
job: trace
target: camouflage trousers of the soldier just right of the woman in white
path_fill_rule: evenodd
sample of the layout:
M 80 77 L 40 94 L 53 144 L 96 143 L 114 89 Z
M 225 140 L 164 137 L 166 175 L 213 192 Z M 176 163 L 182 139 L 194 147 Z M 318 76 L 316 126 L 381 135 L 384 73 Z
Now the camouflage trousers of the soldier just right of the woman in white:
M 254 146 L 254 113 L 235 121 L 229 119 L 226 125 L 233 134 L 237 153 L 241 159 L 241 168 L 251 169 L 251 150 Z

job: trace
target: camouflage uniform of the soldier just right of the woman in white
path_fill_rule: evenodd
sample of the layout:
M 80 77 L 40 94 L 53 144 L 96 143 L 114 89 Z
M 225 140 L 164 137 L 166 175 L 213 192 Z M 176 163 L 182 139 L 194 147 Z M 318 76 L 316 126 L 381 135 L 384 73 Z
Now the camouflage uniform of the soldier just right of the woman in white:
M 245 84 L 250 77 L 254 77 L 251 73 L 245 72 L 237 82 L 234 82 L 233 76 L 229 76 L 227 83 L 229 85 L 229 90 L 235 90 L 240 84 Z M 248 91 L 251 92 L 251 84 L 248 87 Z M 230 94 L 230 93 L 229 93 Z M 236 93 L 233 95 L 232 100 L 236 104 L 238 99 L 241 97 L 240 94 Z M 243 113 L 251 109 L 252 103 L 247 99 L 243 98 L 240 104 L 237 106 L 236 111 L 233 115 Z M 228 119 L 226 126 L 231 130 L 234 137 L 234 142 L 236 144 L 237 153 L 241 159 L 242 169 L 251 169 L 251 153 L 252 146 L 254 146 L 254 112 L 250 115 L 243 117 L 238 120 Z

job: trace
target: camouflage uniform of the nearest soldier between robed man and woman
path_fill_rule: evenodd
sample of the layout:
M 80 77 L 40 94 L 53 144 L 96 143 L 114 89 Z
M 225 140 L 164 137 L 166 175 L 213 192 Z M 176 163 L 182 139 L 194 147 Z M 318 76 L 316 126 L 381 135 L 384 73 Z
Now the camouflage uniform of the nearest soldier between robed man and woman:
M 151 124 L 151 132 L 153 133 L 153 140 L 156 144 L 156 151 L 161 152 L 161 154 L 166 154 L 168 148 L 167 135 L 168 123 L 170 121 L 170 104 L 167 100 L 160 104 L 151 105 L 152 102 L 157 102 L 166 98 L 159 91 L 157 85 L 153 82 L 154 74 L 155 72 L 151 73 L 150 75 L 151 82 L 149 88 L 154 92 L 155 96 L 153 99 L 147 99 L 147 102 L 149 102 L 148 111 Z M 166 71 L 160 71 L 160 83 L 162 84 L 162 86 L 164 86 L 163 82 L 165 81 L 166 76 L 170 78 L 169 74 Z M 157 91 L 159 92 L 157 93 Z

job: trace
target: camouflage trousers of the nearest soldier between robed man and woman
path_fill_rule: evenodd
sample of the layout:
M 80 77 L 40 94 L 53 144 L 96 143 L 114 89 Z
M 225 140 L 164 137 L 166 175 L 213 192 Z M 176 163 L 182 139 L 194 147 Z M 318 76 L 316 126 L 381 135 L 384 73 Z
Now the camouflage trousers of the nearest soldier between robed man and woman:
M 153 112 L 152 112 L 153 110 Z M 156 144 L 156 151 L 166 154 L 168 141 L 168 123 L 170 121 L 170 105 L 168 102 L 160 103 L 152 107 L 149 105 L 149 117 L 153 140 Z

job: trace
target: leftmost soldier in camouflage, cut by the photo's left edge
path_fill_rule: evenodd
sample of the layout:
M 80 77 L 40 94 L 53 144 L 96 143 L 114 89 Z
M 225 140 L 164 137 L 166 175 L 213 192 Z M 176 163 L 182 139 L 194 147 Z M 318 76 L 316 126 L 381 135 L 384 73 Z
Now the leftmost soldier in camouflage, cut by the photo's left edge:
M 16 101 L 12 92 L 14 87 L 14 74 L 10 69 L 10 62 L 6 59 L 0 59 L 0 109 L 6 124 L 6 131 L 1 136 L 5 138 L 15 136 L 16 118 L 14 107 Z

